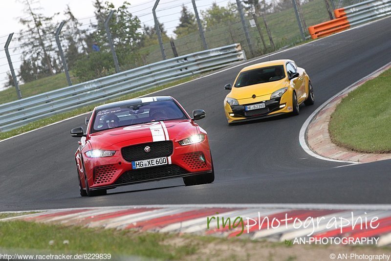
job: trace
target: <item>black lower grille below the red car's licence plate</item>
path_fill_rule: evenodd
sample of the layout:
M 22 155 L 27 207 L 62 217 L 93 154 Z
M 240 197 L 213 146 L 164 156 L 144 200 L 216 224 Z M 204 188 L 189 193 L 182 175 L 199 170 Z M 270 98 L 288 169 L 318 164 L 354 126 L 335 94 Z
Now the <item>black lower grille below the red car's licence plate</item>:
M 164 179 L 184 174 L 188 174 L 188 172 L 176 165 L 164 165 L 159 167 L 131 170 L 123 173 L 114 182 L 114 185 L 147 181 L 151 179 Z

